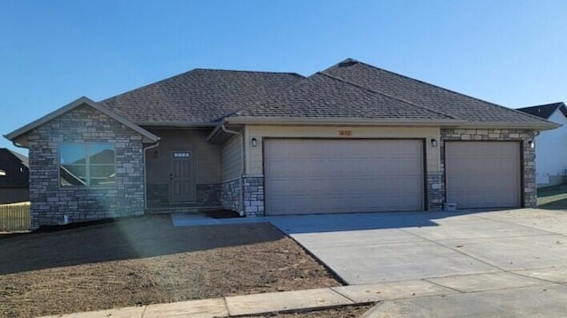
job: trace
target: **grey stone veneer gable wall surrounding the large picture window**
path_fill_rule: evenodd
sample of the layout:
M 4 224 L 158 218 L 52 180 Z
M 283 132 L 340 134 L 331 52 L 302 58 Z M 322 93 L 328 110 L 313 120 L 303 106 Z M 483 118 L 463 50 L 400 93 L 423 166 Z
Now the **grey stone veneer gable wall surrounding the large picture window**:
M 143 136 L 88 105 L 33 129 L 29 143 L 31 227 L 144 213 Z M 60 143 L 113 143 L 116 184 L 59 187 Z

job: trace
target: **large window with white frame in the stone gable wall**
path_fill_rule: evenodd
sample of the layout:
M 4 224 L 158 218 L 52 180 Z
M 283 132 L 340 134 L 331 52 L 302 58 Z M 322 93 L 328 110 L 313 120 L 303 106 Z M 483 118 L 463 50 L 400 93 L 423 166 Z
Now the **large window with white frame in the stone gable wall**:
M 62 143 L 59 145 L 60 185 L 112 186 L 116 183 L 115 158 L 112 143 Z

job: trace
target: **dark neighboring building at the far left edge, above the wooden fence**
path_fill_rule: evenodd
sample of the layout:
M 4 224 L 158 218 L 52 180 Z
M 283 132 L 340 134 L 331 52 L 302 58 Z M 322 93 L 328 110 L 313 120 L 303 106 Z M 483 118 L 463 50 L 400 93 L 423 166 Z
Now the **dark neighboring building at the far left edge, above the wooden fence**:
M 0 148 L 0 204 L 29 201 L 27 157 Z

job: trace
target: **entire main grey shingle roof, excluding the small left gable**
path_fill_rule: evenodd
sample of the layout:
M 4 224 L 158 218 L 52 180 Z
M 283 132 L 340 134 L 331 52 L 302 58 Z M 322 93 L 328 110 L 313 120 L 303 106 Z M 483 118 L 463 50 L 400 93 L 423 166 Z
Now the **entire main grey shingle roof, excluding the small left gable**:
M 307 78 L 195 69 L 100 102 L 138 125 L 229 117 L 456 120 L 549 125 L 547 120 L 346 59 Z

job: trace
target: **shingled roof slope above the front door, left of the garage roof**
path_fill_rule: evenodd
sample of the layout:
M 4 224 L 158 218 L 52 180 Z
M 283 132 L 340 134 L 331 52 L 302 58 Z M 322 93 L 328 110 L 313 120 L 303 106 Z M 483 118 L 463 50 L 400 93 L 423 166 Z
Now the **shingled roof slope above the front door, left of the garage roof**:
M 99 104 L 135 123 L 208 123 L 301 79 L 291 73 L 194 69 Z

